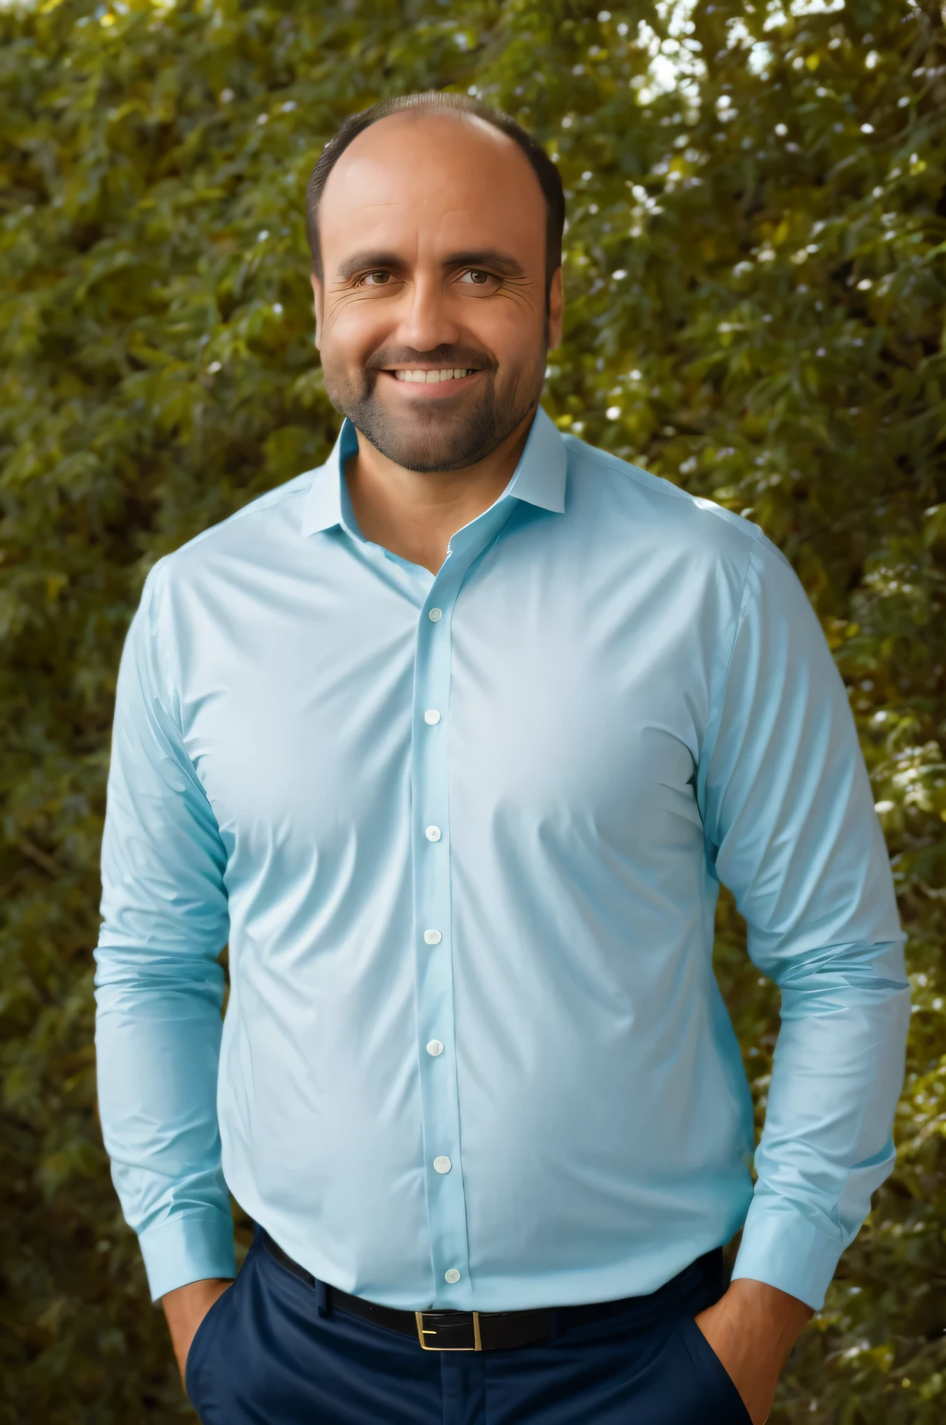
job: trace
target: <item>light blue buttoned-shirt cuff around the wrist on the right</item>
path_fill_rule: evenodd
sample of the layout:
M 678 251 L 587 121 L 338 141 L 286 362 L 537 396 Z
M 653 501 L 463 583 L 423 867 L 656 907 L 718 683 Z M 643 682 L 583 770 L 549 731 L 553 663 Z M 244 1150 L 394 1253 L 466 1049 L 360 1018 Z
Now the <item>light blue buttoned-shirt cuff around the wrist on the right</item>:
M 822 1233 L 795 1204 L 754 1197 L 732 1280 L 765 1281 L 821 1311 L 842 1251 L 841 1234 Z

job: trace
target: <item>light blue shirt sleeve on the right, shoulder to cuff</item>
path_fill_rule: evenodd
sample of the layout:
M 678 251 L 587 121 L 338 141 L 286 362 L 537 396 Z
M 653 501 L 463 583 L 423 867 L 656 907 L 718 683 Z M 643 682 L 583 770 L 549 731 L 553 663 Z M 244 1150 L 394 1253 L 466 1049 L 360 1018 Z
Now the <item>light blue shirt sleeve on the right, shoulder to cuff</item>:
M 909 988 L 893 881 L 843 683 L 788 561 L 752 551 L 701 755 L 707 854 L 782 992 L 735 1277 L 819 1308 L 893 1167 Z

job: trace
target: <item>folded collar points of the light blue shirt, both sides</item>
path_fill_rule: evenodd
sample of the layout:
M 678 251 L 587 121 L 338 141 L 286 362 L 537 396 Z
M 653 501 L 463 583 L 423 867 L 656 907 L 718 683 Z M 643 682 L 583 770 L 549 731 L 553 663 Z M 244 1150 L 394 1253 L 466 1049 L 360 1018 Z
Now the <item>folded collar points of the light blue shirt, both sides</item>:
M 346 418 L 331 456 L 312 476 L 302 512 L 303 534 L 331 530 L 336 524 L 355 533 L 350 527 L 348 489 L 345 489 L 345 462 L 356 450 L 358 433 Z M 500 499 L 514 497 L 553 514 L 563 514 L 567 463 L 564 442 L 540 406 L 519 465 Z

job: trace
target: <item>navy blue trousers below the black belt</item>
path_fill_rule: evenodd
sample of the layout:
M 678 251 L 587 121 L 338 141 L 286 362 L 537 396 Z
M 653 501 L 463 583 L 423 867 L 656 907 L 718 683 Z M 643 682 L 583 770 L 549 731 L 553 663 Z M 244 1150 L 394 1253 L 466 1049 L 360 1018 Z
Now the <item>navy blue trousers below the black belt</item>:
M 258 1234 L 194 1337 L 187 1391 L 204 1425 L 748 1425 L 692 1320 L 722 1288 L 719 1253 L 604 1321 L 511 1351 L 435 1354 L 321 1315 L 318 1288 Z

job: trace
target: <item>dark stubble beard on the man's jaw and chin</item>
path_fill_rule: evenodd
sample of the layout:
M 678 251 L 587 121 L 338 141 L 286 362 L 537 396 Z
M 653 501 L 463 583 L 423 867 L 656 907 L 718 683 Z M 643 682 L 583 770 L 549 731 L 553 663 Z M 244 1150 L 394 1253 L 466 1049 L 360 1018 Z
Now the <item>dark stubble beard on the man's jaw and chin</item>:
M 467 363 L 457 361 L 456 365 Z M 497 390 L 496 372 L 480 369 L 477 389 L 463 392 L 452 410 L 442 409 L 437 400 L 426 408 L 417 402 L 413 410 L 393 412 L 378 395 L 379 372 L 363 369 L 359 376 L 360 380 L 326 366 L 329 400 L 376 450 L 403 470 L 420 475 L 463 470 L 484 460 L 521 425 L 540 393 L 537 389 L 526 395 L 516 385 L 506 392 Z

